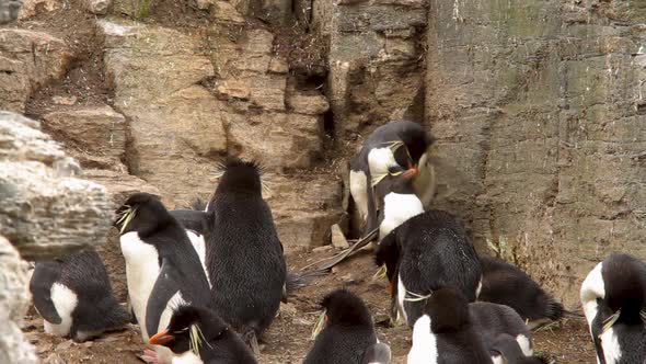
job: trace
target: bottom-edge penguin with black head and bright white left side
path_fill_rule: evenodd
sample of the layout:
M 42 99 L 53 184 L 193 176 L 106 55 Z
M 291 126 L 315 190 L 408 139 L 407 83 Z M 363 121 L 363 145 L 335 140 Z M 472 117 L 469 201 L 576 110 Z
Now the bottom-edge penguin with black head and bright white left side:
M 468 300 L 459 291 L 440 287 L 426 299 L 413 327 L 407 363 L 492 363 L 471 322 Z

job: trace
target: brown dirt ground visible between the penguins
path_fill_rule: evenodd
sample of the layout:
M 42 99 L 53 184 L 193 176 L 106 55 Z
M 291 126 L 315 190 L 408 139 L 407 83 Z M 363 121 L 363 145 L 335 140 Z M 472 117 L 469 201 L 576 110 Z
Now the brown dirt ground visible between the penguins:
M 334 253 L 332 249 L 316 252 L 293 252 L 288 264 L 299 269 Z M 379 339 L 391 345 L 393 363 L 405 363 L 411 348 L 411 330 L 389 328 L 389 297 L 384 280 L 373 278 L 376 266 L 368 252 L 361 252 L 335 268 L 325 276 L 296 292 L 288 304 L 282 304 L 272 327 L 266 332 L 259 363 L 300 363 L 312 344 L 310 334 L 319 315 L 318 303 L 328 292 L 346 287 L 366 300 L 372 311 Z M 137 326 L 112 332 L 85 343 L 49 337 L 43 332 L 42 319 L 26 318 L 27 338 L 37 348 L 43 363 L 119 363 L 140 364 L 145 345 Z M 593 363 L 593 348 L 584 319 L 564 319 L 534 331 L 534 350 L 555 363 Z

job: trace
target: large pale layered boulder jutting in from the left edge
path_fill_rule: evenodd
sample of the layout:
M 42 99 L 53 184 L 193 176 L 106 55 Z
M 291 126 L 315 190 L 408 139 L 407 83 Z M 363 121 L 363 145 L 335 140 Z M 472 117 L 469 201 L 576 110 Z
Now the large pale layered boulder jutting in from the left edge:
M 105 241 L 113 205 L 38 123 L 0 112 L 0 227 L 24 259 L 50 259 Z

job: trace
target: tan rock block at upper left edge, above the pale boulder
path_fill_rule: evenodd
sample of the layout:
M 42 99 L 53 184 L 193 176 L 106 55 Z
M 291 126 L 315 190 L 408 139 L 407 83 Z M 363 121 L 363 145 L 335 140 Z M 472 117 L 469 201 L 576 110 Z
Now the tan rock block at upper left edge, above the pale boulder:
M 71 53 L 49 34 L 0 29 L 0 110 L 24 112 L 33 91 L 65 76 Z

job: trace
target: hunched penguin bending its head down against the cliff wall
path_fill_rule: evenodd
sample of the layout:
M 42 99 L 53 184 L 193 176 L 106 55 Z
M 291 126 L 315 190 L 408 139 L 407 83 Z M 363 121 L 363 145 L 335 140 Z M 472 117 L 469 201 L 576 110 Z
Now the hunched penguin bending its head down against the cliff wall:
M 350 160 L 349 185 L 355 205 L 365 224 L 362 236 L 377 228 L 377 206 L 372 187 L 393 167 L 415 172 L 415 190 L 424 206 L 435 194 L 435 171 L 429 160 L 434 144 L 419 124 L 395 121 L 374 129 L 361 150 Z

